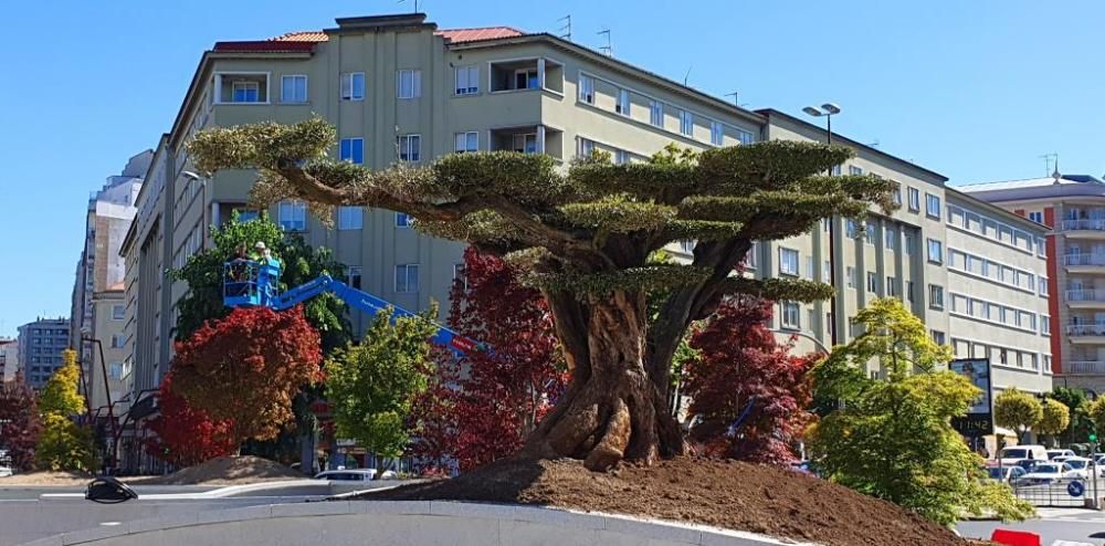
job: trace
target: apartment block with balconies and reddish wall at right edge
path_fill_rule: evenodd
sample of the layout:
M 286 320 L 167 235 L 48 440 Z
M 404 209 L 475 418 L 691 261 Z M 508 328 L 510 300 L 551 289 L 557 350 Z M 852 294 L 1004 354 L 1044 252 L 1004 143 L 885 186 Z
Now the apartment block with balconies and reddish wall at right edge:
M 1055 384 L 1105 393 L 1105 183 L 1056 171 L 961 189 L 1049 228 Z

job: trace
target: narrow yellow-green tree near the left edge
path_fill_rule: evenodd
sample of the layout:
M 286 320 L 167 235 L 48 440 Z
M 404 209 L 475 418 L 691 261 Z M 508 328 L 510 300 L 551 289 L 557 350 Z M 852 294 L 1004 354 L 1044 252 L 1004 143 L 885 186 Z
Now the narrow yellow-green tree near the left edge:
M 85 411 L 84 399 L 77 393 L 81 370 L 76 351 L 63 351 L 62 363 L 39 397 L 42 433 L 34 456 L 40 469 L 91 472 L 94 465 L 92 430 L 73 420 Z

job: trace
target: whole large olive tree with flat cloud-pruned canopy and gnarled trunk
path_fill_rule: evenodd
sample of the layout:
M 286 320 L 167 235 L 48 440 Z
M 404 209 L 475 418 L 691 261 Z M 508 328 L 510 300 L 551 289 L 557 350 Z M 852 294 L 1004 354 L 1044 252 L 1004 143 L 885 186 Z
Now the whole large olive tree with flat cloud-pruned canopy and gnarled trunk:
M 532 456 L 573 456 L 590 469 L 685 451 L 665 410 L 672 356 L 692 321 L 722 298 L 755 293 L 814 301 L 832 288 L 735 274 L 753 242 L 808 232 L 832 214 L 892 207 L 892 183 L 819 176 L 851 156 L 839 146 L 769 141 L 650 162 L 602 159 L 558 168 L 544 155 L 456 154 L 429 166 L 370 170 L 328 158 L 322 119 L 201 132 L 189 144 L 209 172 L 257 169 L 259 204 L 295 198 L 322 218 L 335 206 L 406 212 L 425 233 L 466 241 L 523 266 L 548 298 L 571 371 L 567 392 L 527 442 Z M 695 240 L 686 264 L 650 264 Z M 650 322 L 645 293 L 666 288 Z

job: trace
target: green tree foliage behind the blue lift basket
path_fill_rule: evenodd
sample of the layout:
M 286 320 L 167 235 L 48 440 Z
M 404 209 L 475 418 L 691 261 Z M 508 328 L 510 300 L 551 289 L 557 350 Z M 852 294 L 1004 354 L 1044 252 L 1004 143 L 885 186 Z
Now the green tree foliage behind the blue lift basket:
M 281 290 L 298 286 L 322 273 L 336 279 L 346 274 L 345 265 L 336 261 L 328 249 L 313 249 L 299 234 L 285 233 L 266 214 L 246 222 L 239 221 L 235 214 L 222 228 L 212 230 L 211 239 L 212 248 L 193 255 L 182 269 L 172 272 L 173 277 L 187 282 L 189 288 L 178 304 L 178 340 L 191 337 L 206 321 L 230 314 L 230 308 L 222 303 L 223 265 L 234 259 L 242 245 L 252 251 L 254 244 L 263 242 L 272 250 L 283 266 Z M 333 294 L 304 303 L 304 315 L 322 335 L 324 351 L 349 342 L 346 305 Z

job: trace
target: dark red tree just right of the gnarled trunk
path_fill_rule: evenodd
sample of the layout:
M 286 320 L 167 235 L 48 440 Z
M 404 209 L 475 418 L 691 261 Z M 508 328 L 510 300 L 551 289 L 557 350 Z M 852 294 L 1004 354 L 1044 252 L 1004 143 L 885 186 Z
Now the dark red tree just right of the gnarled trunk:
M 695 417 L 691 435 L 709 455 L 769 464 L 797 460 L 792 444 L 813 420 L 806 410 L 812 400 L 808 376 L 818 357 L 791 355 L 793 344 L 776 340 L 768 328 L 771 308 L 765 300 L 729 300 L 691 338 L 699 353 L 684 370 Z

